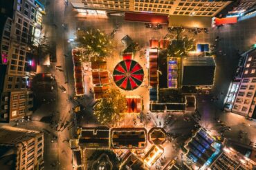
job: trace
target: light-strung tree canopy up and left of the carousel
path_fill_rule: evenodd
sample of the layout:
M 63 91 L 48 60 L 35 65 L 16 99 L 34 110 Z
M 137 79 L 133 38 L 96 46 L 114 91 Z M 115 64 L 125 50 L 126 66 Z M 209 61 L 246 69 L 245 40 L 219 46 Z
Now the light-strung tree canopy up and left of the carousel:
M 77 30 L 76 36 L 75 41 L 84 50 L 85 61 L 93 56 L 112 56 L 114 45 L 109 36 L 99 29 Z

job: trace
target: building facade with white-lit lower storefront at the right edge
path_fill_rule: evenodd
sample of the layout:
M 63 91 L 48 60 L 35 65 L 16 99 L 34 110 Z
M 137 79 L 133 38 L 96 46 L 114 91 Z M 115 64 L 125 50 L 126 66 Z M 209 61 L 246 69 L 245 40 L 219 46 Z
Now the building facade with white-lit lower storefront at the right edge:
M 226 97 L 225 109 L 235 114 L 256 118 L 256 48 L 242 56 L 235 80 Z

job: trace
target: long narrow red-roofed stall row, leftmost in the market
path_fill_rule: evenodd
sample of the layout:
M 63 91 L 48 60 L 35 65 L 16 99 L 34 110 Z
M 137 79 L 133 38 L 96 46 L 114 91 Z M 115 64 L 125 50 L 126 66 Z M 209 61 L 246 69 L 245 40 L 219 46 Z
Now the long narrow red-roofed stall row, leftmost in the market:
M 73 71 L 74 71 L 74 79 L 75 79 L 75 95 L 83 96 L 84 95 L 84 74 L 82 67 L 82 50 L 73 49 L 72 50 L 73 57 Z

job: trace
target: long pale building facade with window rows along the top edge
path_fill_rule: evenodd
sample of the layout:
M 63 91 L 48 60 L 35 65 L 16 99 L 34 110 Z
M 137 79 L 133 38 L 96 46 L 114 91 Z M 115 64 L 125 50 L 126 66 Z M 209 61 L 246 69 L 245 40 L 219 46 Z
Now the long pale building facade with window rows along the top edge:
M 82 0 L 85 9 L 214 17 L 231 1 L 205 0 Z M 81 5 L 80 5 L 81 7 Z

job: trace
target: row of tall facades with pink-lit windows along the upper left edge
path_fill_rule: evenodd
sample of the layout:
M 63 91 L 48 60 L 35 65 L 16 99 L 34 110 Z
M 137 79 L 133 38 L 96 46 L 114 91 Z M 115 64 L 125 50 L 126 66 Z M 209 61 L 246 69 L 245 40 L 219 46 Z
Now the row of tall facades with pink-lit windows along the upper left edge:
M 1 1 L 0 5 L 0 64 L 6 65 L 1 76 L 0 122 L 8 123 L 29 116 L 33 109 L 30 82 L 37 63 L 33 49 L 39 43 L 43 10 L 37 0 Z

